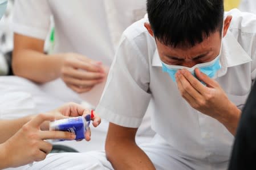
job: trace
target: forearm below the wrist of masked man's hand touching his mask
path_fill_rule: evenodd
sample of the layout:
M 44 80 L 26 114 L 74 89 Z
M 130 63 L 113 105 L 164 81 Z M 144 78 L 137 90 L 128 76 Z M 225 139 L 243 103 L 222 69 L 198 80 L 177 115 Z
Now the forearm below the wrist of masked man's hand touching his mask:
M 229 113 L 224 114 L 224 117 L 218 119 L 218 121 L 220 121 L 227 128 L 227 130 L 229 130 L 229 132 L 235 136 L 241 113 L 241 110 L 231 103 Z

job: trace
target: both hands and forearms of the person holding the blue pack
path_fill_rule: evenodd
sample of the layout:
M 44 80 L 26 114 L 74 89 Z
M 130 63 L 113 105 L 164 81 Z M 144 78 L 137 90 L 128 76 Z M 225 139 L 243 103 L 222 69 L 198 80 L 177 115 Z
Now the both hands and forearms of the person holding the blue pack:
M 48 131 L 49 121 L 87 114 L 90 114 L 88 109 L 76 103 L 68 103 L 49 113 L 0 121 L 0 128 L 5 129 L 0 137 L 0 169 L 19 167 L 33 161 L 44 160 L 52 150 L 52 144 L 48 143 L 47 139 L 75 139 L 75 134 L 71 132 Z M 97 115 L 92 124 L 95 127 L 100 124 L 100 118 Z M 90 139 L 91 131 L 88 130 L 86 140 Z

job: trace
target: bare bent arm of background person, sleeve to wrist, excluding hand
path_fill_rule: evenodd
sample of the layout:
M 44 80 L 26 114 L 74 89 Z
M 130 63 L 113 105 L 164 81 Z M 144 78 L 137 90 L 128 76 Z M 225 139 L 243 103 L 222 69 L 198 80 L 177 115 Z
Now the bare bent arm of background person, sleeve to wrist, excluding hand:
M 14 74 L 39 83 L 58 78 L 63 57 L 47 56 L 43 48 L 43 40 L 14 34 Z

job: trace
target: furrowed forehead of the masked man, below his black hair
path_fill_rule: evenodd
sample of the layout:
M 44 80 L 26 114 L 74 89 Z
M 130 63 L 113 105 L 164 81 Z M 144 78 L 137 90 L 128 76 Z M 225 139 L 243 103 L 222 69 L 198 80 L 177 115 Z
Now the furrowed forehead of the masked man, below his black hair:
M 178 45 L 177 47 L 169 47 L 156 39 L 157 48 L 161 55 L 184 57 L 184 56 L 197 56 L 202 53 L 217 50 L 220 48 L 221 36 L 220 32 L 213 33 L 203 42 L 194 45 Z

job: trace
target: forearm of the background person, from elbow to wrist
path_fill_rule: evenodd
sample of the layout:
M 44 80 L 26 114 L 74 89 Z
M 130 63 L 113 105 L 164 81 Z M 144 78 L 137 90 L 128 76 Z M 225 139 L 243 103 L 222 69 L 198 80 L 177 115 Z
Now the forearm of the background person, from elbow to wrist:
M 44 83 L 60 76 L 63 55 L 45 55 L 30 49 L 14 51 L 13 71 L 15 75 L 31 81 Z

